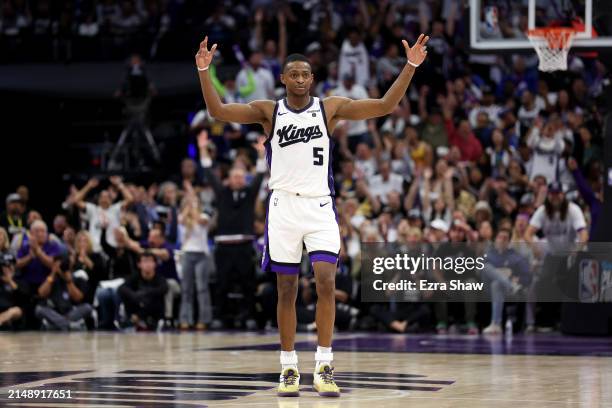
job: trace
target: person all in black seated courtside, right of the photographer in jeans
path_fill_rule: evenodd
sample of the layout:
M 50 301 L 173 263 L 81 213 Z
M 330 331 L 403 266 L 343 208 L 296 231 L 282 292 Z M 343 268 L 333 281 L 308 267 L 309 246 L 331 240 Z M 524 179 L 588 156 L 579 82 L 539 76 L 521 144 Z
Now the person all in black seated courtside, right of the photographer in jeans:
M 156 272 L 156 258 L 149 251 L 138 257 L 139 273 L 125 280 L 119 287 L 119 297 L 126 314 L 137 330 L 152 330 L 164 314 L 164 296 L 168 290 L 166 279 Z

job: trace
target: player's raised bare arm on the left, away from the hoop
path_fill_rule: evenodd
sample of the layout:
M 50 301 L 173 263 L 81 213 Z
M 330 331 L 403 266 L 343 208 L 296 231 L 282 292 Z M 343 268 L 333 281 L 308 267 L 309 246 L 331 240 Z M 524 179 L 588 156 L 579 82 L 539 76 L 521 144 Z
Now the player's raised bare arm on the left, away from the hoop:
M 205 37 L 204 41 L 200 43 L 200 50 L 195 56 L 202 94 L 204 95 L 208 113 L 213 118 L 222 122 L 259 123 L 264 127 L 266 133 L 269 132 L 272 111 L 274 110 L 273 101 L 253 101 L 248 104 L 224 104 L 221 102 L 221 98 L 213 86 L 208 69 L 216 50 L 217 44 L 214 44 L 208 50 L 208 37 Z

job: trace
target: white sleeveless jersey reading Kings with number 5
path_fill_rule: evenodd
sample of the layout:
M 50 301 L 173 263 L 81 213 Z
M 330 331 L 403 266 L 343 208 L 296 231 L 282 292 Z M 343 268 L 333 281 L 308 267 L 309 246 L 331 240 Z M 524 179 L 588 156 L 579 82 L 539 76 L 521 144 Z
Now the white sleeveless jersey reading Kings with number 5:
M 319 98 L 310 97 L 299 111 L 291 109 L 286 98 L 277 101 L 265 146 L 270 190 L 305 197 L 334 195 L 332 140 Z

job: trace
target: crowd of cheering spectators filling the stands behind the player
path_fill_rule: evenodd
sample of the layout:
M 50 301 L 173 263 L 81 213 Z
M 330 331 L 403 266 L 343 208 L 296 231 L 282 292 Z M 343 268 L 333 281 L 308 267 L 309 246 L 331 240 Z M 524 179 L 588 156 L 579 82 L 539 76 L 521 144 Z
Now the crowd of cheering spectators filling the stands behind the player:
M 277 3 L 209 7 L 201 32 L 220 44 L 211 74 L 225 102 L 282 98 L 279 72 L 288 50 L 311 61 L 313 95 L 378 98 L 405 64 L 400 40 L 431 36 L 428 57 L 392 114 L 330 129 L 342 238 L 338 328 L 446 333 L 459 327 L 475 334 L 486 326 L 485 333 L 499 333 L 505 297 L 529 293 L 546 262 L 513 245 L 586 242 L 597 223 L 607 68 L 592 53 L 571 56 L 572 69 L 554 75 L 521 55 L 472 61 L 463 44 L 466 11 L 454 0 Z M 41 16 L 50 4 L 5 1 L 2 35 L 45 29 Z M 200 3 L 79 4 L 63 9 L 57 24 L 49 19 L 46 29 L 60 33 L 69 21 L 70 27 L 78 22 L 71 35 L 138 27 L 159 36 Z M 92 178 L 70 188 L 52 220 L 30 208 L 26 186 L 7 197 L 0 215 L 2 327 L 274 326 L 275 277 L 259 267 L 265 135 L 258 126 L 219 122 L 205 108 L 189 125 L 196 148 L 167 180 Z M 471 299 L 362 303 L 364 242 L 481 243 L 490 262 L 473 279 L 495 283 L 487 317 Z M 316 330 L 307 257 L 302 266 L 298 324 Z M 536 302 L 525 307 L 527 331 L 540 324 Z

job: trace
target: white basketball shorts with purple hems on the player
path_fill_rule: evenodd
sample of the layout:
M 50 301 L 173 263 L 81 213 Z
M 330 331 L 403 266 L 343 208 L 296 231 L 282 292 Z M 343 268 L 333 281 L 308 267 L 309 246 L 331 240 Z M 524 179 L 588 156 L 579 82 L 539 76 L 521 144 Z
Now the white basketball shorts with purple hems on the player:
M 338 263 L 340 228 L 334 198 L 274 190 L 267 204 L 262 269 L 299 273 L 304 245 L 311 263 Z

